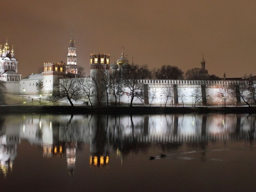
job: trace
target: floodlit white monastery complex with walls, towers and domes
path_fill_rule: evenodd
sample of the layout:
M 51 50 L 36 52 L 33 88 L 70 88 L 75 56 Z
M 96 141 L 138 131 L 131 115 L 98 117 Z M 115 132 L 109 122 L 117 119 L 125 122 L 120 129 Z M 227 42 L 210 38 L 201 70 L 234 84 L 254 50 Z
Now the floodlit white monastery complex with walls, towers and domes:
M 54 82 L 61 81 L 66 74 L 78 74 L 78 65 L 76 62 L 76 47 L 74 46 L 75 40 L 72 36 L 70 38 L 70 46 L 68 47 L 67 63 L 44 63 L 44 72 L 40 74 L 31 74 L 30 76 L 21 79 L 21 74 L 18 74 L 18 60 L 14 57 L 14 47 L 12 50 L 9 48 L 8 39 L 0 46 L 0 80 L 6 82 L 6 89 L 8 94 L 17 94 L 24 96 L 36 96 L 39 98 L 36 89 L 36 82 L 43 82 L 43 95 L 42 98 L 49 99 L 51 95 L 59 91 L 59 88 L 54 86 Z M 90 54 L 90 76 L 95 77 L 98 83 L 103 83 L 102 74 L 106 74 L 109 79 L 111 73 L 122 73 L 122 70 L 128 66 L 134 66 L 133 62 L 130 64 L 124 57 L 122 52 L 121 57 L 113 64 L 110 64 L 109 54 Z M 220 80 L 209 80 L 208 70 L 206 70 L 206 62 L 204 57 L 201 61 L 201 70 L 204 80 L 156 80 L 156 79 L 141 79 L 139 83 L 144 85 L 143 95 L 144 99 L 140 100 L 134 98 L 134 105 L 160 105 L 160 106 L 173 106 L 173 105 L 194 105 L 196 98 L 192 93 L 197 90 L 200 92 L 201 98 L 196 102 L 200 106 L 214 106 L 219 105 L 246 105 L 239 95 L 233 98 L 220 98 L 218 92 L 220 90 L 227 90 L 230 85 L 236 86 L 236 89 L 242 88 L 248 84 L 246 80 L 228 80 L 224 74 L 224 78 Z M 83 78 L 83 82 L 91 82 L 91 78 Z M 164 90 L 171 88 L 172 96 L 166 98 Z M 98 105 L 96 97 L 96 90 L 92 87 L 92 94 L 90 99 L 94 106 Z M 106 91 L 105 91 L 106 92 Z M 118 105 L 129 105 L 131 102 L 128 88 L 124 88 L 122 94 L 118 96 Z M 125 94 L 126 93 L 126 94 Z M 113 104 L 115 98 L 111 90 L 109 94 L 104 94 L 104 90 L 100 90 L 101 106 Z M 83 101 L 74 104 L 88 104 L 88 98 L 84 97 Z M 90 104 L 90 103 L 89 103 Z

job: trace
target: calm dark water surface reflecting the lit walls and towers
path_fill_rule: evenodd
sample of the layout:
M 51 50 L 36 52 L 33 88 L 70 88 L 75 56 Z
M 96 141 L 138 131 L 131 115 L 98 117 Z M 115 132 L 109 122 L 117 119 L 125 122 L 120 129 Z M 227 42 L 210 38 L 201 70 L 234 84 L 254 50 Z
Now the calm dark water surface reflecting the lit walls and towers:
M 1 115 L 0 191 L 256 191 L 256 114 Z

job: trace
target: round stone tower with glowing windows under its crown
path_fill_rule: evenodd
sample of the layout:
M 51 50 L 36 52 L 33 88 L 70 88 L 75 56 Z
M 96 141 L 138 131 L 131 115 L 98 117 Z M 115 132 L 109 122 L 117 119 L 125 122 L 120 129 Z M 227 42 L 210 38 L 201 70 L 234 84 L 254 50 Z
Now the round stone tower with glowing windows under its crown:
M 90 76 L 92 82 L 92 105 L 107 106 L 109 100 L 109 54 L 90 54 Z

